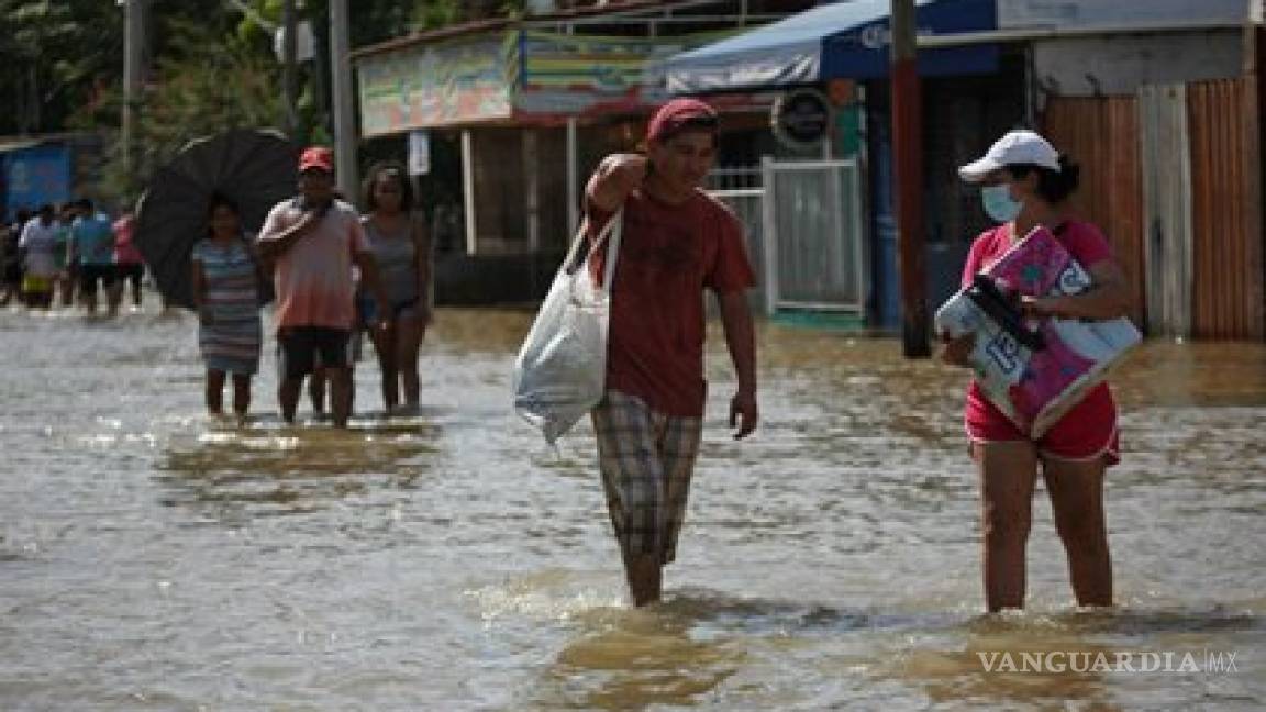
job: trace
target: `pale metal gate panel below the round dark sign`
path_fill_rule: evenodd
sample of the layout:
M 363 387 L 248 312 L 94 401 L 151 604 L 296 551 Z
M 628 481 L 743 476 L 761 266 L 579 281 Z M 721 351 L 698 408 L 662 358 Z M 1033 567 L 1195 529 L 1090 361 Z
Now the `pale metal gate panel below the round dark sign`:
M 766 312 L 865 315 L 866 241 L 857 160 L 766 157 L 761 167 Z

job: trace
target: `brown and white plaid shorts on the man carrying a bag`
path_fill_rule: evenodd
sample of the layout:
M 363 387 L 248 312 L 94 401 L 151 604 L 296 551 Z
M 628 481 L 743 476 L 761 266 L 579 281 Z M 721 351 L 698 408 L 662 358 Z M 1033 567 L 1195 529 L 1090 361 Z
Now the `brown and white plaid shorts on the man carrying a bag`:
M 656 413 L 641 398 L 608 390 L 594 408 L 606 509 L 625 556 L 677 556 L 703 418 Z

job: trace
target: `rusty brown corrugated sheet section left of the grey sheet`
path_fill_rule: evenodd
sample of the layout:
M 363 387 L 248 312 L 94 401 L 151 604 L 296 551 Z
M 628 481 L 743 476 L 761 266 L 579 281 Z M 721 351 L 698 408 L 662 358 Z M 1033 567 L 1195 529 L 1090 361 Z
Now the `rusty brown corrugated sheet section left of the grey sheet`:
M 1137 100 L 1051 98 L 1043 124 L 1051 143 L 1081 165 L 1081 189 L 1072 196 L 1072 209 L 1099 226 L 1112 242 L 1133 294 L 1131 317 L 1144 324 L 1147 274 Z

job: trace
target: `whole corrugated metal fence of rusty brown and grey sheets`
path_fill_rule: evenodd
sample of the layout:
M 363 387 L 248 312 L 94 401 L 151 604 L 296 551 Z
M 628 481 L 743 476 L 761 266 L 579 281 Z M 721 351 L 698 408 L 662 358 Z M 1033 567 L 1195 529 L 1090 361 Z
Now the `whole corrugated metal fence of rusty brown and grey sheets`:
M 1081 162 L 1074 208 L 1112 241 L 1137 323 L 1153 336 L 1260 341 L 1266 295 L 1256 77 L 1179 89 L 1052 98 L 1043 128 Z M 1171 120 L 1166 96 L 1182 101 L 1182 94 L 1186 115 L 1177 119 L 1185 120 Z M 1174 175 L 1177 163 L 1189 166 L 1190 180 Z

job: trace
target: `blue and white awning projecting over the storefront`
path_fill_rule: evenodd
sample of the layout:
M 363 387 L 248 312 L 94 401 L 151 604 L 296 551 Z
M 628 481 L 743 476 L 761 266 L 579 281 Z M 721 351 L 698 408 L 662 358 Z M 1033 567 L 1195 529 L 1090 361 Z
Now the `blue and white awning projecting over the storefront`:
M 752 32 L 674 54 L 665 63 L 672 94 L 743 91 L 875 79 L 890 65 L 891 0 L 842 0 Z M 996 29 L 995 0 L 918 0 L 920 35 Z M 998 47 L 975 44 L 919 52 L 923 75 L 989 73 Z

